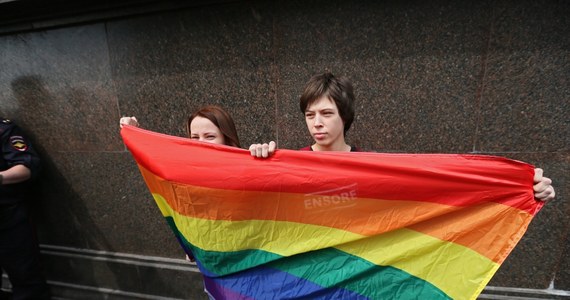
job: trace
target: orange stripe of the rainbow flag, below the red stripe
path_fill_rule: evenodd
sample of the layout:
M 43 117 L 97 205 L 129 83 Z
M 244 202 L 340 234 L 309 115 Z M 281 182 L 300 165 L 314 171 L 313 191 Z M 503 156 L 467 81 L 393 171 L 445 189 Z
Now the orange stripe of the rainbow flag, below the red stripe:
M 181 215 L 227 221 L 297 222 L 366 236 L 408 227 L 470 247 L 497 263 L 508 252 L 501 244 L 494 243 L 496 236 L 520 229 L 532 219 L 525 211 L 493 202 L 457 207 L 421 201 L 350 198 L 346 189 L 339 190 L 335 199 L 317 194 L 232 191 L 167 184 L 144 167 L 140 169 L 145 178 L 154 178 L 147 180 L 151 192 L 161 194 Z M 361 218 L 363 215 L 367 218 Z

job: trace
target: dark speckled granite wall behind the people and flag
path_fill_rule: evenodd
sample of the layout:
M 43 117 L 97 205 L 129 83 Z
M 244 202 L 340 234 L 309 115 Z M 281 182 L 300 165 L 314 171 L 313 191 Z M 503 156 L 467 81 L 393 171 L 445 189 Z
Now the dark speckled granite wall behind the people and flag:
M 215 103 L 242 145 L 296 149 L 311 141 L 301 89 L 329 70 L 355 86 L 350 144 L 542 167 L 557 199 L 481 297 L 570 295 L 569 15 L 564 0 L 206 1 L 4 33 L 0 114 L 43 158 L 35 215 L 54 294 L 203 297 L 119 117 L 184 136 Z

